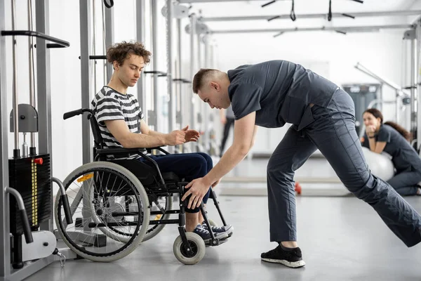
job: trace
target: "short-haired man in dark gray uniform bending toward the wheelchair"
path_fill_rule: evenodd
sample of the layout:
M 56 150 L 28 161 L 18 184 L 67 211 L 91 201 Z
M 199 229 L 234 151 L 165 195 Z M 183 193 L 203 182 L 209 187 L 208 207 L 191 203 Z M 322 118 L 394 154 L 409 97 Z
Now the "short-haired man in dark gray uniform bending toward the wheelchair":
M 331 81 L 301 65 L 272 60 L 241 65 L 228 73 L 202 69 L 193 91 L 211 108 L 234 110 L 234 142 L 203 178 L 190 182 L 182 197 L 199 206 L 210 185 L 219 183 L 246 157 L 256 126 L 292 124 L 267 165 L 270 240 L 279 243 L 263 261 L 305 266 L 297 243 L 294 172 L 319 149 L 345 187 L 364 200 L 408 247 L 421 241 L 421 216 L 385 181 L 373 176 L 355 130 L 352 98 Z M 255 126 L 256 125 L 256 126 Z

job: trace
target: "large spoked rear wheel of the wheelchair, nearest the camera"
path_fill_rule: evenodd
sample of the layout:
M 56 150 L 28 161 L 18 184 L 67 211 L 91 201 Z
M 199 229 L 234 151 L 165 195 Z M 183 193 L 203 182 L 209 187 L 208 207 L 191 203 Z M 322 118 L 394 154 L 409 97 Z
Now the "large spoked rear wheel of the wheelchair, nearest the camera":
M 76 254 L 91 261 L 116 261 L 142 242 L 149 226 L 149 200 L 131 171 L 93 162 L 72 171 L 63 184 L 74 223 L 67 225 L 60 196 L 55 200 L 55 223 Z M 124 208 L 127 200 L 136 209 Z

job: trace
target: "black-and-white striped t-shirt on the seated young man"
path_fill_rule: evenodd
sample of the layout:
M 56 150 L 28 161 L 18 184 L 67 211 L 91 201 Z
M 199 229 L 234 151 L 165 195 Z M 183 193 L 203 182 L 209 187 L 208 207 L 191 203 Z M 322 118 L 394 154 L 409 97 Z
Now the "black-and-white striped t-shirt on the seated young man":
M 124 120 L 132 133 L 141 133 L 142 109 L 139 107 L 138 100 L 130 93 L 119 93 L 109 86 L 104 86 L 95 95 L 91 104 L 100 127 L 104 148 L 123 147 L 105 126 L 106 120 Z

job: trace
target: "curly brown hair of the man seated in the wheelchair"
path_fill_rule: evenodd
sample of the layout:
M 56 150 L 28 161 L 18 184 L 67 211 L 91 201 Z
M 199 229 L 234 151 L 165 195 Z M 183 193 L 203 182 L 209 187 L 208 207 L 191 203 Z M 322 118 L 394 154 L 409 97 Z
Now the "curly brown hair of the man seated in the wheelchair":
M 139 42 L 126 42 L 114 44 L 107 48 L 107 60 L 108 63 L 113 63 L 114 60 L 117 61 L 119 65 L 123 65 L 124 60 L 128 55 L 139 55 L 145 60 L 145 64 L 149 63 L 149 56 L 152 55 L 151 52 L 145 49 L 142 43 Z

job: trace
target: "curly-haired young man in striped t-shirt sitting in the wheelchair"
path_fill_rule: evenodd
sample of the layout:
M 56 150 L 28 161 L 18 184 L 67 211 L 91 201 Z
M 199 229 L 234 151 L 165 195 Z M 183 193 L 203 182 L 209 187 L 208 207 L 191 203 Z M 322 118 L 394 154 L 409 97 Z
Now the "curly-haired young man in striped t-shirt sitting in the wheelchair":
M 138 100 L 127 93 L 128 87 L 135 86 L 151 53 L 140 43 L 122 42 L 107 50 L 107 60 L 112 63 L 114 73 L 107 86 L 92 100 L 95 118 L 106 148 L 154 148 L 161 145 L 181 145 L 197 141 L 199 132 L 189 130 L 189 126 L 171 133 L 159 133 L 149 129 L 143 119 Z M 173 155 L 151 155 L 163 173 L 173 172 L 185 181 L 192 181 L 208 174 L 213 167 L 212 159 L 206 153 L 186 153 Z M 145 161 L 138 156 L 139 161 Z M 146 162 L 147 163 L 147 162 Z M 212 187 L 218 182 L 213 183 Z M 206 204 L 210 188 L 203 197 Z M 186 200 L 188 202 L 188 200 Z M 205 242 L 210 233 L 203 224 L 199 208 L 187 206 L 187 231 L 200 235 Z M 215 237 L 224 239 L 232 235 L 231 226 L 212 227 Z

